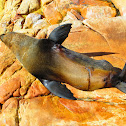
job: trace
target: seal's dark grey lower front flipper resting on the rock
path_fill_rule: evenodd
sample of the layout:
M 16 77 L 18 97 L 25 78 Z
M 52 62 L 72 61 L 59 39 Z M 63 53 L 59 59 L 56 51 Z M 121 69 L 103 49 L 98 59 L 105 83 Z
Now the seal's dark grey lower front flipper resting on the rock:
M 66 85 L 62 85 L 57 81 L 41 80 L 43 85 L 54 95 L 61 98 L 76 100 L 73 93 L 66 88 Z

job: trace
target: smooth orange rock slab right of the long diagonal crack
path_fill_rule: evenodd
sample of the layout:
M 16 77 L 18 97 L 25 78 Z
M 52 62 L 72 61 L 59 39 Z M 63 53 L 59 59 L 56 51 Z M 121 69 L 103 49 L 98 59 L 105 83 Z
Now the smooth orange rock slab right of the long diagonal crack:
M 126 60 L 126 25 L 123 22 L 126 22 L 126 17 L 121 16 L 91 20 L 87 19 L 84 21 L 84 24 L 102 35 L 111 52 L 116 53 L 112 55 L 115 59 L 120 61 L 119 64 L 117 63 L 118 61 L 116 63 L 113 62 L 116 67 L 123 67 Z M 97 48 L 99 49 L 100 46 Z M 123 62 L 123 65 L 121 62 Z

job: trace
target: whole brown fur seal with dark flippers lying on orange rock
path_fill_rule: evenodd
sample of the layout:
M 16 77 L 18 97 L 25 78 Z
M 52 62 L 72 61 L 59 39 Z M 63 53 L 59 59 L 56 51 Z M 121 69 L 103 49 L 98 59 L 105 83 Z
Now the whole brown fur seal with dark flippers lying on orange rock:
M 126 67 L 121 71 L 106 60 L 94 60 L 61 45 L 68 37 L 71 25 L 57 27 L 47 39 L 15 32 L 0 35 L 0 39 L 32 75 L 59 97 L 76 99 L 61 82 L 81 90 L 116 86 L 126 92 L 125 83 L 122 84 Z

